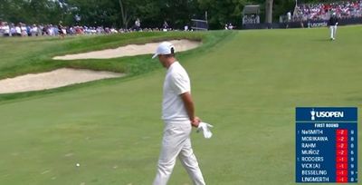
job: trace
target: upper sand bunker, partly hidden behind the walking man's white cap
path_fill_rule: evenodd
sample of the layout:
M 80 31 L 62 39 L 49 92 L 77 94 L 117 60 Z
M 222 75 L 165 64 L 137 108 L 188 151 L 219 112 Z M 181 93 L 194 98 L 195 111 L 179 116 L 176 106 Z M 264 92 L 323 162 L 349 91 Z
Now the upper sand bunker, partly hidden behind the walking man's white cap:
M 201 43 L 190 40 L 173 40 L 169 41 L 176 47 L 176 52 L 191 50 L 199 46 Z M 139 54 L 154 54 L 157 45 L 160 43 L 149 44 L 129 44 L 116 49 L 107 49 L 83 54 L 67 54 L 64 56 L 55 56 L 55 60 L 75 60 L 75 59 L 107 59 L 118 58 L 122 56 L 134 56 Z

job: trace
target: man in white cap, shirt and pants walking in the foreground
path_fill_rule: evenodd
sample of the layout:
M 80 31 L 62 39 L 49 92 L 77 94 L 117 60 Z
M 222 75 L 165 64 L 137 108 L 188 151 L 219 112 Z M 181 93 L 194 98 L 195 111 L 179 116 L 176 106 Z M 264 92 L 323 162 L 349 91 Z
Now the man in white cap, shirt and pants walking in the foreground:
M 185 69 L 175 58 L 175 46 L 164 42 L 159 44 L 156 58 L 167 68 L 163 89 L 162 120 L 165 122 L 161 153 L 157 164 L 154 185 L 166 185 L 178 157 L 195 185 L 204 185 L 203 174 L 198 167 L 191 147 L 192 126 L 201 122 L 195 116 L 191 97 L 190 79 Z

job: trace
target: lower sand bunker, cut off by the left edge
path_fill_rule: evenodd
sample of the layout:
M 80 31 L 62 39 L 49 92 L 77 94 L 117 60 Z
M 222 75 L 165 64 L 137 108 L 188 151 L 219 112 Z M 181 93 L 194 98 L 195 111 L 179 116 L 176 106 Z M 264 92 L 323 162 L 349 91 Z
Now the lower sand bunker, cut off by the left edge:
M 106 78 L 117 78 L 122 73 L 90 70 L 58 69 L 48 73 L 34 73 L 0 80 L 0 93 L 20 93 L 62 87 L 74 83 L 86 83 Z

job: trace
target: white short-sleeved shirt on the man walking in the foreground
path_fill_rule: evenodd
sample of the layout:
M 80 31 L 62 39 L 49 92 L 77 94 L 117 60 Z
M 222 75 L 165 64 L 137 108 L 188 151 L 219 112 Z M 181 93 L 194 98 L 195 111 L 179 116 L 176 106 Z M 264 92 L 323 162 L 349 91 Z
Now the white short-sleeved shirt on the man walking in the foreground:
M 186 107 L 180 94 L 191 93 L 190 79 L 182 65 L 172 63 L 167 69 L 164 83 L 164 97 L 162 101 L 162 120 L 189 121 Z

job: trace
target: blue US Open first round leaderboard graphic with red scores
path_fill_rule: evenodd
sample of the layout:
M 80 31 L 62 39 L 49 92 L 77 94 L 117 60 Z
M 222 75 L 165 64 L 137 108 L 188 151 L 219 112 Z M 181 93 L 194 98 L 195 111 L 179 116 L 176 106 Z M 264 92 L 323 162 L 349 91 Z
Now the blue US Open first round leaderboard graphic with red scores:
M 357 183 L 357 108 L 296 108 L 296 182 Z

